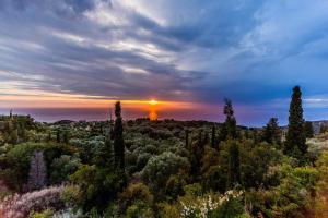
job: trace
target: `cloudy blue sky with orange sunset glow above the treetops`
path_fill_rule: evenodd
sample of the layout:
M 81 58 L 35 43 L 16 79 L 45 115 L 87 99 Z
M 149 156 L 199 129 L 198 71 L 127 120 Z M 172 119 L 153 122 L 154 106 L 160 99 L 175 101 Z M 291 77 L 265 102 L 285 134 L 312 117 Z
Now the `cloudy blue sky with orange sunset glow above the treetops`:
M 121 100 L 133 117 L 156 99 L 159 118 L 222 121 L 227 97 L 241 124 L 285 124 L 301 85 L 305 119 L 328 119 L 327 12 L 326 0 L 1 0 L 0 111 L 60 119 Z

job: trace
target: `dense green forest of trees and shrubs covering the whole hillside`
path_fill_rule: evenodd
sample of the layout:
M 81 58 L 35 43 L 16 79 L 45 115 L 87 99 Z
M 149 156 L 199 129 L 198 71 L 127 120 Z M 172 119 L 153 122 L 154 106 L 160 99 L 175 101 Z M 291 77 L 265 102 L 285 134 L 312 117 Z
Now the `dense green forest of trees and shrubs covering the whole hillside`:
M 31 217 L 308 217 L 324 207 L 316 195 L 327 189 L 328 158 L 307 150 L 305 136 L 314 133 L 298 87 L 285 141 L 276 118 L 261 129 L 238 126 L 231 100 L 223 113 L 224 123 L 125 122 L 117 102 L 114 123 L 3 116 L 0 196 L 28 191 L 31 170 L 42 166 L 35 154 L 43 154 L 43 183 L 65 191 L 56 195 L 60 211 L 39 207 Z

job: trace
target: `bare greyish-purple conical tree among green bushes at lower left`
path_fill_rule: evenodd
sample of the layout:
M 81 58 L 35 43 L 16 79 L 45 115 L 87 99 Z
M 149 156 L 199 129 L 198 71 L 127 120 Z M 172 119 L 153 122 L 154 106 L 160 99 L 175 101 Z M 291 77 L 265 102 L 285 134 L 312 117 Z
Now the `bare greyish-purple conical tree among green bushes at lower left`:
M 46 185 L 47 168 L 44 152 L 36 150 L 31 159 L 28 173 L 28 190 L 40 190 Z

